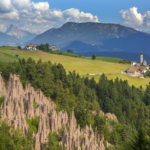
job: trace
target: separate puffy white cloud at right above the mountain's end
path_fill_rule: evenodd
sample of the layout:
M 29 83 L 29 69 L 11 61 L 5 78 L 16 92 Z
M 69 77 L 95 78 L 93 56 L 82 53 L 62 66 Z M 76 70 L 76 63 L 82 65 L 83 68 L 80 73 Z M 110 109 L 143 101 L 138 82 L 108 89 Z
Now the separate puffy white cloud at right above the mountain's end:
M 122 19 L 123 25 L 127 25 L 134 28 L 147 28 L 150 26 L 150 11 L 141 14 L 138 12 L 137 7 L 130 8 L 128 10 L 121 10 L 119 12 Z

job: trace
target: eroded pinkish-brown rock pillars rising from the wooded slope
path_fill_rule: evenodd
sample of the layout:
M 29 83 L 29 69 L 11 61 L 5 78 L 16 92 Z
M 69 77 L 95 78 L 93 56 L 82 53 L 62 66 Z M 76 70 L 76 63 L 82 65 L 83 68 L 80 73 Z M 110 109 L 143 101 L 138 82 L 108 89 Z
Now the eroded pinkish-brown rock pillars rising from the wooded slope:
M 46 142 L 49 132 L 57 131 L 61 134 L 61 142 L 67 150 L 105 150 L 104 139 L 100 140 L 97 129 L 93 131 L 91 126 L 84 130 L 77 125 L 74 110 L 68 117 L 65 111 L 56 113 L 55 104 L 44 96 L 41 90 L 35 90 L 30 84 L 23 89 L 19 76 L 10 74 L 7 83 L 3 82 L 0 75 L 0 96 L 5 95 L 4 103 L 1 105 L 2 120 L 15 128 L 22 128 L 24 134 L 29 129 L 26 118 L 39 116 L 38 131 L 35 136 L 35 149 L 40 150 L 41 145 Z M 34 104 L 34 105 L 33 105 Z M 109 146 L 109 143 L 106 142 Z

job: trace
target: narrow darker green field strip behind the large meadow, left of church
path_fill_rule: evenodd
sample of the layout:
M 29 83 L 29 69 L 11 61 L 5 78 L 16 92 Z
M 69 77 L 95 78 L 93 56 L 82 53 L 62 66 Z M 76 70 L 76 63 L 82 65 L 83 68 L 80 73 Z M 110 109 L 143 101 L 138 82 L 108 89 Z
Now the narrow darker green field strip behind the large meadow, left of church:
M 86 57 L 86 58 L 91 59 L 91 57 Z M 96 57 L 96 60 L 112 62 L 112 63 L 118 63 L 122 59 L 120 59 L 120 58 L 113 58 L 113 57 Z

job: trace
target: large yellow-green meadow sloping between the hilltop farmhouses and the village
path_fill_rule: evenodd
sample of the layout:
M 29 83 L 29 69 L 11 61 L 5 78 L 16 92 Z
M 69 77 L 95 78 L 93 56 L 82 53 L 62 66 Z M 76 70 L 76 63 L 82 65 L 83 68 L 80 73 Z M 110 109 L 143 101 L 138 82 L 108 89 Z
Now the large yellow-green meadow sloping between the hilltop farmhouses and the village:
M 86 75 L 88 73 L 120 73 L 121 70 L 125 70 L 129 67 L 129 65 L 55 55 L 42 51 L 19 51 L 11 49 L 13 49 L 13 47 L 0 47 L 1 61 L 14 61 L 18 58 L 27 59 L 29 57 L 32 57 L 35 61 L 37 61 L 41 58 L 43 62 L 50 60 L 52 63 L 61 63 L 63 64 L 67 72 L 76 70 L 76 72 L 78 72 L 80 75 Z M 19 55 L 18 58 L 15 57 L 16 54 Z

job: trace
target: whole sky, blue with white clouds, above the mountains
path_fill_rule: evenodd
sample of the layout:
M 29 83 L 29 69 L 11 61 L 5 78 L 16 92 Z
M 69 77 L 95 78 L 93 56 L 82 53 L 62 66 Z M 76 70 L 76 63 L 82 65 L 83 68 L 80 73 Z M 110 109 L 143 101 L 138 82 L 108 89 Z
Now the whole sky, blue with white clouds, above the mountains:
M 0 0 L 0 31 L 44 32 L 66 22 L 115 23 L 150 31 L 150 0 Z

